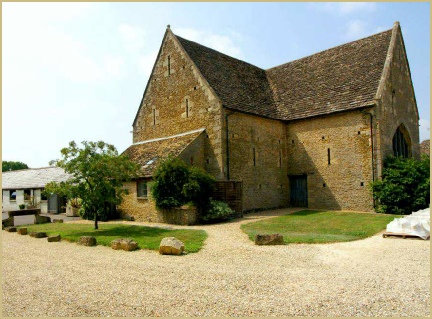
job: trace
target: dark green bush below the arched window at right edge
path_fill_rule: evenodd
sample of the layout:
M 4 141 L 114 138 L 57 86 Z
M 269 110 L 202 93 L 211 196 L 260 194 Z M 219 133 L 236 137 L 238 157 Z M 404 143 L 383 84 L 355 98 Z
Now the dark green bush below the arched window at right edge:
M 388 157 L 382 180 L 371 184 L 376 211 L 411 214 L 430 204 L 430 159 Z

